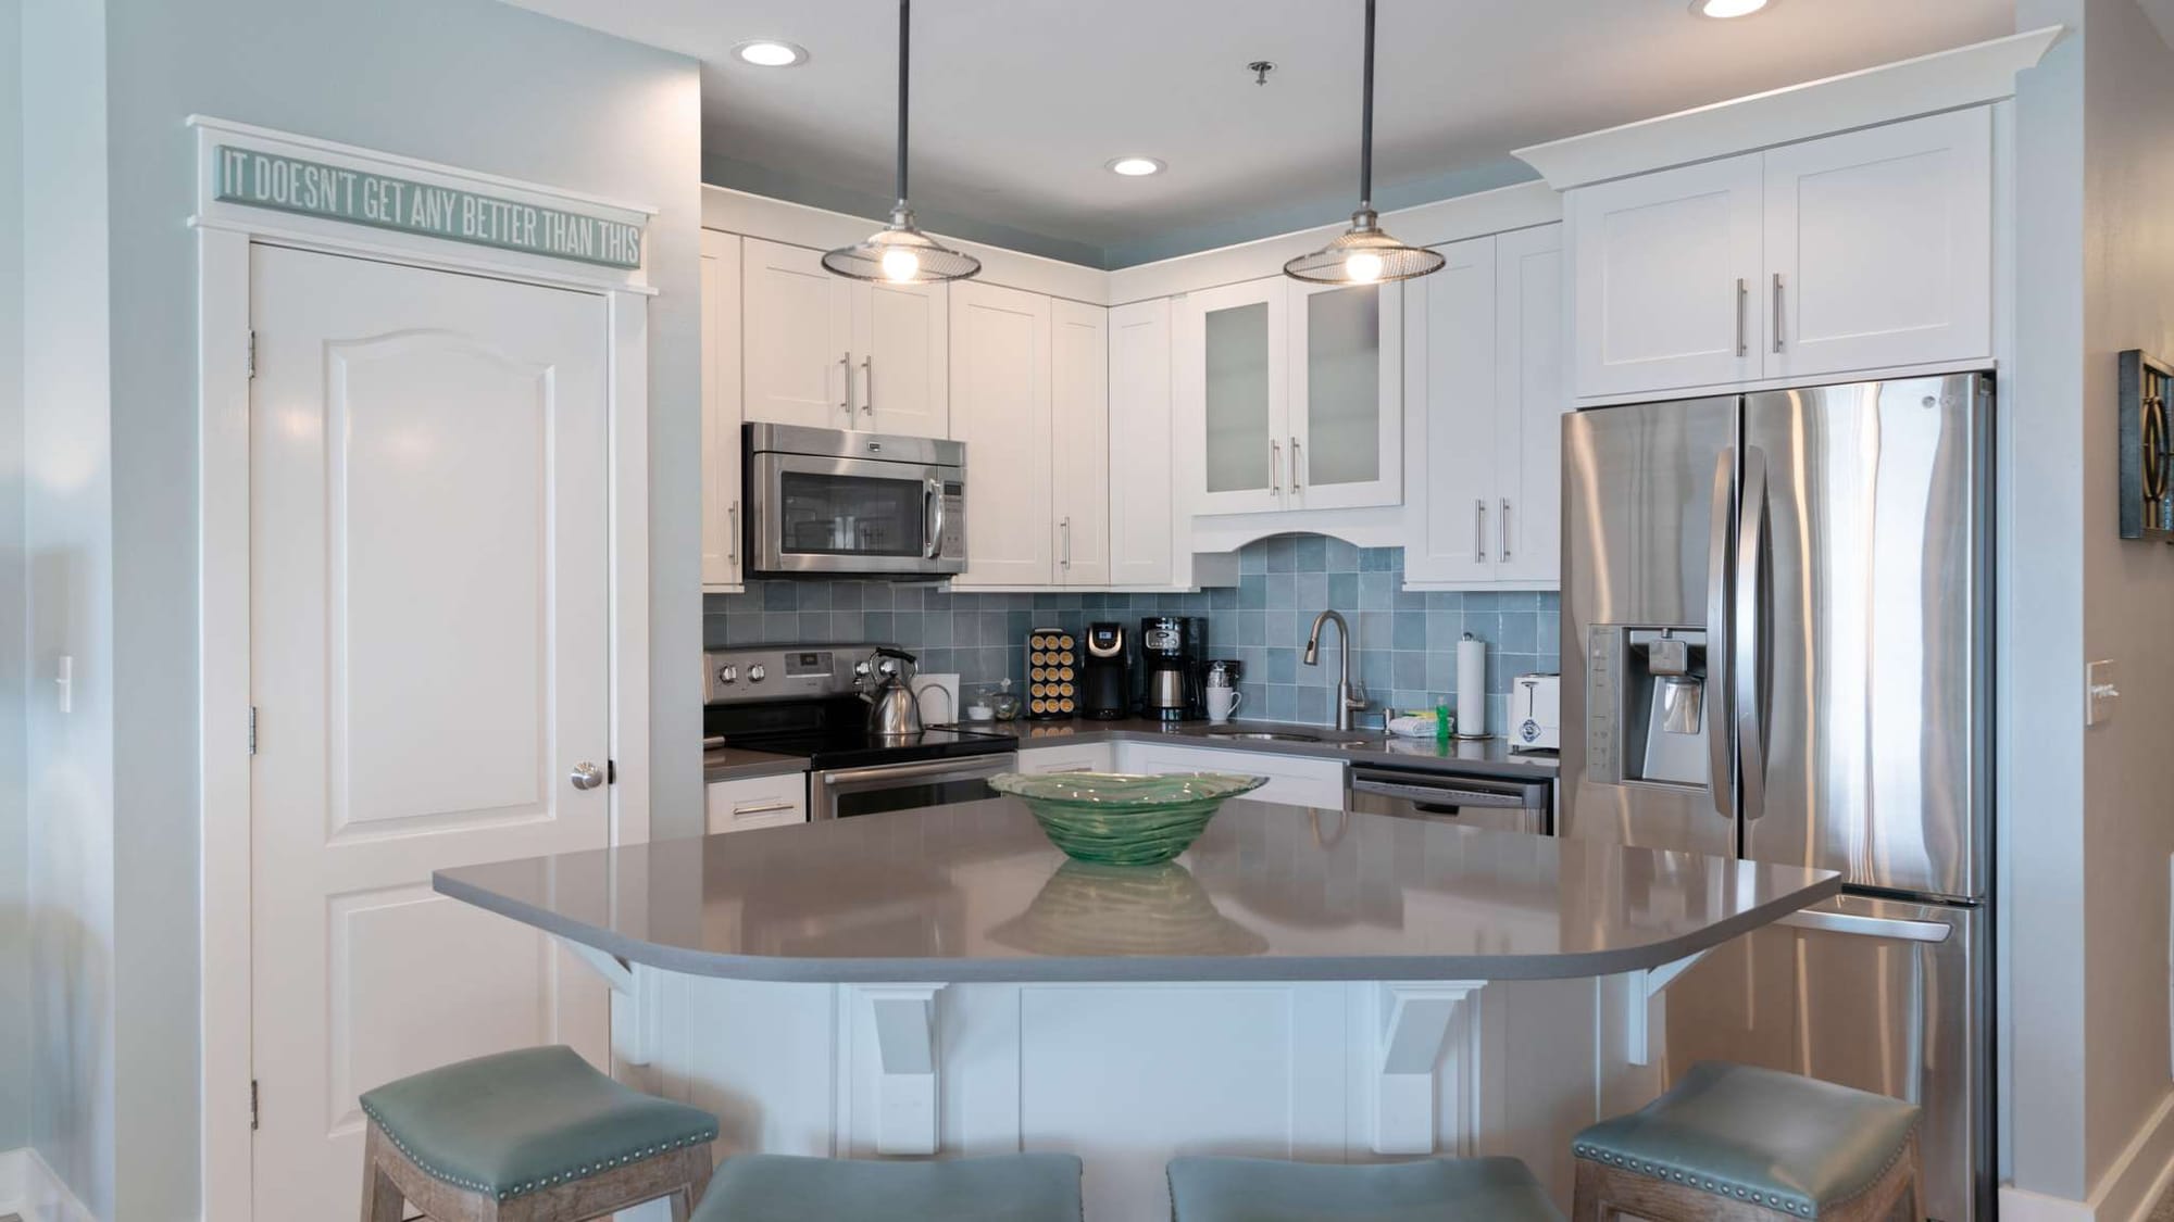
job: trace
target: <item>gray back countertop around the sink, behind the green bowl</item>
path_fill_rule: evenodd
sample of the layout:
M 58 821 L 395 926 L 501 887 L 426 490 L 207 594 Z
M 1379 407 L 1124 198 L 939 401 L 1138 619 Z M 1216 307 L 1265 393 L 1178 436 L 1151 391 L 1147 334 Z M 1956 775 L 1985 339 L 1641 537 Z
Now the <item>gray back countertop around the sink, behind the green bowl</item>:
M 1426 772 L 1463 772 L 1478 776 L 1513 776 L 1552 781 L 1561 772 L 1554 752 L 1515 752 L 1509 739 L 1472 739 L 1437 744 L 1435 739 L 1398 739 L 1380 731 L 1335 731 L 1328 726 L 1291 726 L 1278 722 L 1230 722 L 1211 726 L 1207 722 L 1150 722 L 1126 718 L 1122 722 L 961 722 L 961 731 L 1015 735 L 1020 750 L 1037 746 L 1087 744 L 1087 741 L 1172 741 L 1187 746 L 1267 750 L 1276 755 L 1311 755 L 1341 759 L 1346 763 L 1389 763 Z M 1248 737 L 1248 735 L 1294 735 L 1294 737 Z M 1302 735 L 1302 737 L 1298 737 Z

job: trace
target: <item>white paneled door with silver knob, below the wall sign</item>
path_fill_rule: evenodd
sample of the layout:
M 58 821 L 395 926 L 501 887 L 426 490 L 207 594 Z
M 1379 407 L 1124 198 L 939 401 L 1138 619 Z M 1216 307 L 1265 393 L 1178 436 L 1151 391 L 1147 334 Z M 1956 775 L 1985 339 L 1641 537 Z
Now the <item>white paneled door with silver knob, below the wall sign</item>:
M 430 872 L 609 837 L 607 309 L 257 246 L 250 317 L 254 1215 L 352 1218 L 363 1089 L 604 1063 L 602 983 Z

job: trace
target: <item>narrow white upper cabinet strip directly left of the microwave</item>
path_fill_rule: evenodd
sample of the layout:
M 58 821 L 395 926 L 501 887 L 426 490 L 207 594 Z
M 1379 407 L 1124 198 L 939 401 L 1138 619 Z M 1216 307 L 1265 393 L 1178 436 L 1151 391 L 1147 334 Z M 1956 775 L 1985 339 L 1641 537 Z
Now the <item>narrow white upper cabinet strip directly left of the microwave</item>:
M 702 591 L 735 594 L 739 568 L 739 237 L 702 230 Z

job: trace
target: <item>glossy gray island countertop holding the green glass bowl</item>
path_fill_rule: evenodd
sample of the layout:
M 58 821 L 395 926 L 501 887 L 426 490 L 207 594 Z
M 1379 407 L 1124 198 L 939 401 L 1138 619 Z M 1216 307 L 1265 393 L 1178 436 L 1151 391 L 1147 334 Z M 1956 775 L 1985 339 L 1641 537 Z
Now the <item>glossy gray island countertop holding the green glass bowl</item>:
M 1085 865 L 998 798 L 435 885 L 630 963 L 748 981 L 1513 981 L 1659 968 L 1841 878 L 1246 800 L 1174 863 Z

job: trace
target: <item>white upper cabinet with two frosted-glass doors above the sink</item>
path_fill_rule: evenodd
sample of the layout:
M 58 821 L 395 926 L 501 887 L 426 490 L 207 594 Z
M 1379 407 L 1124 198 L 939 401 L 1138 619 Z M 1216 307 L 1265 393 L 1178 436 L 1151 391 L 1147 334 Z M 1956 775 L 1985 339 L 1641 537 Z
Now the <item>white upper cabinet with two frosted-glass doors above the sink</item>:
M 1180 300 L 1196 513 L 1398 504 L 1402 294 L 1283 276 Z

